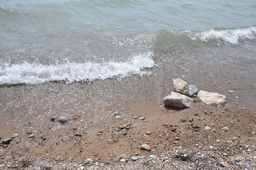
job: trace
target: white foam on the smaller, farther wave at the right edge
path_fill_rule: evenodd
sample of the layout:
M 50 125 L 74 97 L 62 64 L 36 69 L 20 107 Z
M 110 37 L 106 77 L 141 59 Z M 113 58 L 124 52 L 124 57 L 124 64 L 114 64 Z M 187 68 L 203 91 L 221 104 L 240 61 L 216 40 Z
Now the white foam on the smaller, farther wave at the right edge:
M 221 42 L 238 44 L 239 41 L 246 41 L 248 39 L 256 38 L 256 27 L 241 28 L 241 29 L 227 29 L 214 30 L 209 29 L 199 33 L 191 33 L 189 37 L 192 40 L 201 40 L 207 42 L 209 40 L 216 40 L 217 44 Z

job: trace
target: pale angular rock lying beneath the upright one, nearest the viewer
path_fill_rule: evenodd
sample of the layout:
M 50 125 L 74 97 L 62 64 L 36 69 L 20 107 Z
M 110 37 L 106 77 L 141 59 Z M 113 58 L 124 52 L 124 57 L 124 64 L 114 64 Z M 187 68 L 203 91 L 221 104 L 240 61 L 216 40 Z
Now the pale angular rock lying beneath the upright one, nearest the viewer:
M 191 108 L 193 100 L 185 95 L 172 91 L 169 96 L 164 97 L 165 106 Z

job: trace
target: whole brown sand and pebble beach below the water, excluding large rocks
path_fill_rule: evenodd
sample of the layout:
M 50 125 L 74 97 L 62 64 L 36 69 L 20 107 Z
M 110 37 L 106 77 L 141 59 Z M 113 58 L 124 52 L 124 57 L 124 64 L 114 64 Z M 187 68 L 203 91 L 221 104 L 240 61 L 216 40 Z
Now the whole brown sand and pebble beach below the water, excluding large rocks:
M 222 57 L 225 48 L 191 49 L 195 57 L 156 54 L 155 66 L 144 70 L 151 74 L 122 80 L 2 85 L 0 137 L 19 136 L 0 145 L 0 168 L 254 169 L 255 60 L 245 60 L 238 48 Z M 225 95 L 227 104 L 194 97 L 192 108 L 165 107 L 173 78 Z M 56 115 L 68 123 L 51 121 Z M 128 162 L 117 159 L 122 154 Z

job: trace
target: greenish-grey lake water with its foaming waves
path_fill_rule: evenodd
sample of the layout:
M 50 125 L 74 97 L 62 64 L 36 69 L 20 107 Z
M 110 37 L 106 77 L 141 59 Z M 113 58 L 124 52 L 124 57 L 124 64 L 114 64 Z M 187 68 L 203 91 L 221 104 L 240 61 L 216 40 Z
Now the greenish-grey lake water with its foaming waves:
M 254 1 L 0 1 L 0 84 L 151 74 L 158 57 L 194 48 L 240 48 L 255 63 L 255 10 Z

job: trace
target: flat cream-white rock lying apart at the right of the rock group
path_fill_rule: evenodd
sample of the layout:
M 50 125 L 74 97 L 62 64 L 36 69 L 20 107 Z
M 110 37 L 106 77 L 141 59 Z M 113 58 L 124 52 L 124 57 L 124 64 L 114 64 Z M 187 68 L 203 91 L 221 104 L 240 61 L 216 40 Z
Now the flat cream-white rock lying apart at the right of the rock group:
M 213 104 L 216 106 L 224 105 L 227 99 L 224 95 L 220 95 L 218 93 L 211 93 L 203 90 L 200 90 L 197 96 L 206 104 Z

